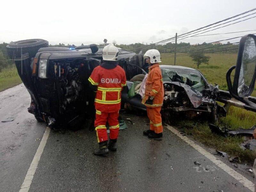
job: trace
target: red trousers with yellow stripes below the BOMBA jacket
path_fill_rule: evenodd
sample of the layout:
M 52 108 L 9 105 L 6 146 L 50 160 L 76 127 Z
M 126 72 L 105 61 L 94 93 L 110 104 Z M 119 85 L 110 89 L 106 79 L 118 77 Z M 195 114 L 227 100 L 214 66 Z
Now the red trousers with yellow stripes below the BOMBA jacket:
M 115 111 L 112 113 L 101 112 L 96 109 L 96 118 L 94 122 L 98 143 L 107 141 L 107 127 L 106 123 L 108 121 L 109 125 L 109 139 L 117 139 L 119 133 L 119 122 L 118 122 L 119 111 Z

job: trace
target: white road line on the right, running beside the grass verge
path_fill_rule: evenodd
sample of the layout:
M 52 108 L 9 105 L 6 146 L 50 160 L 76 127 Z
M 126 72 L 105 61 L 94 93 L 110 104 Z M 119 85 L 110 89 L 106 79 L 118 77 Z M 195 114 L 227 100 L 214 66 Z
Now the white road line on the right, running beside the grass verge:
M 206 151 L 204 148 L 197 145 L 195 142 L 188 139 L 186 136 L 182 136 L 180 132 L 176 129 L 174 129 L 172 126 L 167 126 L 167 129 L 169 129 L 171 132 L 173 132 L 175 135 L 180 137 L 180 139 L 184 140 L 188 145 L 195 148 L 199 153 L 210 159 L 214 164 L 216 164 L 218 167 L 223 169 L 225 172 L 227 172 L 229 175 L 234 177 L 236 180 L 238 180 L 240 183 L 244 185 L 244 187 L 250 189 L 251 191 L 254 191 L 254 183 L 252 183 L 250 180 L 246 179 L 243 175 L 236 172 L 234 169 L 230 168 L 228 165 L 223 163 L 222 161 L 216 159 L 215 156 L 213 156 L 211 153 Z

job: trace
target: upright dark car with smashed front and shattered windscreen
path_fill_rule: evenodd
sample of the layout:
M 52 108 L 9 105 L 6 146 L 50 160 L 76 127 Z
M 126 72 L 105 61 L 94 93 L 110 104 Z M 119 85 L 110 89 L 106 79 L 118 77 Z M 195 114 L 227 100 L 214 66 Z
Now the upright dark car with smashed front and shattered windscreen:
M 162 114 L 164 119 L 172 119 L 172 113 L 184 113 L 188 117 L 195 117 L 201 114 L 210 116 L 211 122 L 218 121 L 218 117 L 226 116 L 226 110 L 216 102 L 219 96 L 218 85 L 207 83 L 206 78 L 198 70 L 193 68 L 160 65 L 164 84 L 164 104 Z M 122 92 L 123 103 L 130 108 L 146 110 L 141 104 L 141 96 L 136 94 L 129 97 L 129 91 L 134 79 L 143 79 L 146 72 L 132 63 L 128 63 L 124 70 L 127 74 L 127 88 Z M 138 78 L 136 78 L 138 77 Z

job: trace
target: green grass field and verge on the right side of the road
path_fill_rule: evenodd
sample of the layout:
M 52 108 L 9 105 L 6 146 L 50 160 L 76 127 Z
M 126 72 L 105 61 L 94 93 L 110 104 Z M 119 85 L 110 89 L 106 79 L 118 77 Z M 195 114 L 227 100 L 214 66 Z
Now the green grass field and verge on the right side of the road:
M 162 56 L 163 55 L 164 54 L 162 54 Z M 209 64 L 201 64 L 198 70 L 204 74 L 210 84 L 216 83 L 219 85 L 220 89 L 228 90 L 226 72 L 231 66 L 236 65 L 237 54 L 210 53 L 205 55 L 211 57 Z M 163 58 L 161 64 L 173 65 L 173 63 L 174 58 L 172 57 Z M 197 69 L 196 64 L 194 64 L 189 56 L 177 57 L 176 65 Z M 234 78 L 233 74 L 231 75 L 231 79 L 232 78 Z M 256 96 L 255 89 L 252 96 Z M 207 146 L 216 148 L 217 150 L 225 151 L 231 156 L 238 156 L 241 161 L 252 164 L 256 158 L 255 152 L 249 150 L 244 151 L 239 147 L 242 143 L 242 139 L 240 137 L 223 138 L 216 134 L 212 134 L 206 121 L 195 122 L 191 120 L 182 120 L 175 124 L 180 127 L 185 127 L 186 133 L 188 135 L 193 135 L 194 139 Z M 219 125 L 221 127 L 225 126 L 228 129 L 248 129 L 255 124 L 256 113 L 231 106 L 228 110 L 227 116 L 220 118 Z

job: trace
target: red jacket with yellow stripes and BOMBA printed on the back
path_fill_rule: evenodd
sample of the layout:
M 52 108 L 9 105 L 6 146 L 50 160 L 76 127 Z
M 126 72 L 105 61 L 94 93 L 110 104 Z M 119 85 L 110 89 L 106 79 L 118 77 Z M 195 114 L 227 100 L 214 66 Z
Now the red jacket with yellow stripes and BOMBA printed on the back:
M 106 69 L 98 66 L 93 69 L 88 79 L 92 85 L 98 85 L 95 108 L 99 111 L 114 112 L 121 107 L 121 91 L 126 86 L 124 69 L 116 66 Z

